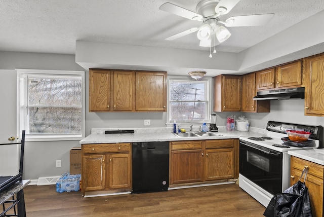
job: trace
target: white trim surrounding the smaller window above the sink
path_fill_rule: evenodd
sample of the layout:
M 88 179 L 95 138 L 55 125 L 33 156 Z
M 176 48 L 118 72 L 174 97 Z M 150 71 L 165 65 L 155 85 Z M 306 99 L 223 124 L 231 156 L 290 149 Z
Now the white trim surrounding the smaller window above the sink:
M 171 84 L 170 80 L 171 79 L 178 79 L 178 80 L 183 80 L 183 81 L 192 81 L 192 78 L 190 78 L 189 76 L 168 76 L 168 85 Z M 207 90 L 209 90 L 207 92 L 207 99 L 208 99 L 208 107 L 209 107 L 209 113 L 211 114 L 213 112 L 213 106 L 212 106 L 212 103 L 213 103 L 213 88 L 212 88 L 212 77 L 203 77 L 201 79 L 199 79 L 199 81 L 207 81 Z M 170 87 L 168 86 L 168 107 L 170 108 L 171 107 L 171 104 L 170 104 Z M 171 127 L 173 126 L 173 120 L 170 120 L 170 109 L 167 110 L 167 123 L 166 123 L 166 126 L 167 127 Z M 178 123 L 178 122 L 177 122 Z M 179 122 L 181 125 L 191 125 L 191 124 L 203 124 L 203 121 L 181 121 Z M 210 116 L 208 117 L 208 120 L 207 120 L 207 123 L 210 123 Z

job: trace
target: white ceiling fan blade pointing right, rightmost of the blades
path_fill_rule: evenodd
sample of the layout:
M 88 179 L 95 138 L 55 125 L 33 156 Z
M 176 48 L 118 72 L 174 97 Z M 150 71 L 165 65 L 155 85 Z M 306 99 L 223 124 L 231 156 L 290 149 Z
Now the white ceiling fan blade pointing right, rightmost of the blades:
M 274 14 L 256 14 L 246 16 L 235 16 L 228 18 L 223 23 L 226 27 L 235 26 L 262 26 L 267 24 L 273 17 Z

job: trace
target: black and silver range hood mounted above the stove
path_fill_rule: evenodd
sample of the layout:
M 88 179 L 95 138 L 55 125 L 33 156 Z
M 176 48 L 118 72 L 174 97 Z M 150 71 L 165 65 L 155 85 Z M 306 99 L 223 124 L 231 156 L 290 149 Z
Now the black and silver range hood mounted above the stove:
M 274 99 L 303 99 L 305 97 L 305 88 L 289 88 L 281 90 L 259 91 L 253 97 L 254 100 L 274 100 Z

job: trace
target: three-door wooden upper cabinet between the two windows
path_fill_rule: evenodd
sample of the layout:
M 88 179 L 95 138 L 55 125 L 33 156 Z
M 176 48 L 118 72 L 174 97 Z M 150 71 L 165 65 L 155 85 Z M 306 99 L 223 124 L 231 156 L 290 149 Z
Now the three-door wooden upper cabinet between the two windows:
M 90 69 L 89 103 L 90 112 L 165 112 L 167 73 Z

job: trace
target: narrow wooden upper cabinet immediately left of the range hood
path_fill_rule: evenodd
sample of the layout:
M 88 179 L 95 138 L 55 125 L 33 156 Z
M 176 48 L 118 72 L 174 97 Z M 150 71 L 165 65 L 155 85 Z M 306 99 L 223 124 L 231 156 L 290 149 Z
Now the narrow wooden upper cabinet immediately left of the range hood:
M 257 95 L 255 81 L 255 73 L 242 76 L 242 112 L 270 112 L 270 100 L 253 100 Z

